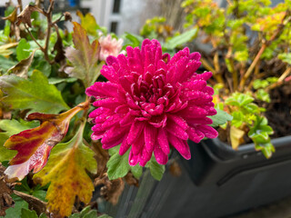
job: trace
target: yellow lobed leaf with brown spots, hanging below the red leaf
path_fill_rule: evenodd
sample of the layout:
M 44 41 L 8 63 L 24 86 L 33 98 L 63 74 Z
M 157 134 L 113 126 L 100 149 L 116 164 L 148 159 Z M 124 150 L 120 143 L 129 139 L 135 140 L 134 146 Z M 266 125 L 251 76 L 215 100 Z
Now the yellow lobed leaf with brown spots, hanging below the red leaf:
M 46 193 L 48 210 L 61 217 L 72 213 L 75 196 L 89 203 L 94 191 L 86 170 L 96 173 L 96 162 L 94 152 L 83 144 L 84 126 L 68 143 L 55 146 L 45 168 L 34 176 L 42 185 L 50 183 Z

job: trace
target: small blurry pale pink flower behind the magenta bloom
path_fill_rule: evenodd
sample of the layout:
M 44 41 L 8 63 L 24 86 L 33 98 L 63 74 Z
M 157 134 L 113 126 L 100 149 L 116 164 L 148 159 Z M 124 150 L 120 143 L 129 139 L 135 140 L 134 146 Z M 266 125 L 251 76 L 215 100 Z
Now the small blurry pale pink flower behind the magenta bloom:
M 100 60 L 105 61 L 109 55 L 117 56 L 121 49 L 123 40 L 112 38 L 111 35 L 101 36 L 98 39 L 101 50 L 100 50 Z

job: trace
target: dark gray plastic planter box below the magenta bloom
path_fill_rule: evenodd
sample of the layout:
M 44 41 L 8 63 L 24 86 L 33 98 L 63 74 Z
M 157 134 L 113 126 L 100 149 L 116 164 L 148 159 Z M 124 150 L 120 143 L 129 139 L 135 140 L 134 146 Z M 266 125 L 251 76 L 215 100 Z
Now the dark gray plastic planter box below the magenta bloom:
M 266 160 L 253 144 L 238 151 L 218 140 L 189 142 L 192 158 L 175 158 L 182 175 L 166 170 L 160 182 L 145 172 L 140 187 L 125 187 L 120 202 L 106 204 L 115 218 L 225 217 L 291 196 L 291 136 L 273 140 L 276 153 Z

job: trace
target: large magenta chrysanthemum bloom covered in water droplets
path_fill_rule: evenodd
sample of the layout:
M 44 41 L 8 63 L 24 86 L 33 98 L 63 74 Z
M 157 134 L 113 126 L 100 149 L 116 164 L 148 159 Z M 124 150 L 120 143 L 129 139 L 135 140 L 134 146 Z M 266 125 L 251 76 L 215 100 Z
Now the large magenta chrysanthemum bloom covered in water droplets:
M 212 73 L 196 74 L 200 54 L 185 48 L 170 58 L 156 40 L 146 39 L 141 50 L 126 48 L 106 59 L 101 74 L 108 82 L 86 89 L 96 98 L 92 139 L 102 138 L 104 149 L 121 144 L 119 154 L 131 147 L 129 164 L 145 166 L 153 152 L 166 164 L 170 145 L 186 159 L 187 139 L 199 143 L 217 132 L 207 116 L 215 115 L 213 88 L 206 85 Z

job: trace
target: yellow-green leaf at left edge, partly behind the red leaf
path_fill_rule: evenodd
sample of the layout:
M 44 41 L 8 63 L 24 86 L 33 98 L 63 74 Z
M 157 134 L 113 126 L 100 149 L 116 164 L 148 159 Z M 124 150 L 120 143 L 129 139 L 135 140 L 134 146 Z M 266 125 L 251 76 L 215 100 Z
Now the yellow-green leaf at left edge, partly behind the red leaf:
M 20 123 L 16 120 L 0 120 L 0 129 L 5 131 L 4 133 L 0 133 L 0 162 L 9 161 L 16 154 L 16 151 L 5 148 L 5 141 L 11 135 L 18 134 L 33 127 L 35 127 L 35 123 L 28 123 L 25 121 Z

